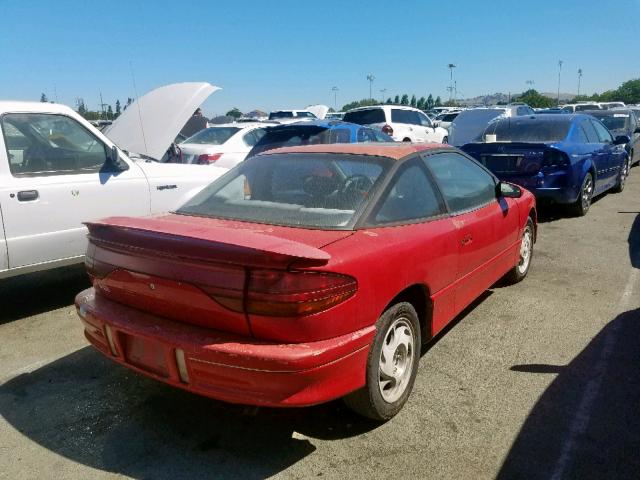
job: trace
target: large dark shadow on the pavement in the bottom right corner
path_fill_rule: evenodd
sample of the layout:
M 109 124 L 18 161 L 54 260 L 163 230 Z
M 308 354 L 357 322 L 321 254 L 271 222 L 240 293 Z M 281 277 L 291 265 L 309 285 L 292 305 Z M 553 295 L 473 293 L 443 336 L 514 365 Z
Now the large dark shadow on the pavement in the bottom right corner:
M 514 365 L 557 374 L 497 476 L 601 479 L 640 476 L 640 309 L 617 316 L 568 365 Z

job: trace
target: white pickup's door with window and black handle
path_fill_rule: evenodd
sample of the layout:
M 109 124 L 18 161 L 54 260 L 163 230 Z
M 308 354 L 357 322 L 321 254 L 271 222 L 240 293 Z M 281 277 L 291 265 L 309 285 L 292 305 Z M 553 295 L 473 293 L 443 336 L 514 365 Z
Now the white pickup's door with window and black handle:
M 76 119 L 6 113 L 0 126 L 6 165 L 0 208 L 10 269 L 73 263 L 86 249 L 82 222 L 150 213 L 142 170 L 122 158 L 121 168 L 108 168 L 111 146 Z

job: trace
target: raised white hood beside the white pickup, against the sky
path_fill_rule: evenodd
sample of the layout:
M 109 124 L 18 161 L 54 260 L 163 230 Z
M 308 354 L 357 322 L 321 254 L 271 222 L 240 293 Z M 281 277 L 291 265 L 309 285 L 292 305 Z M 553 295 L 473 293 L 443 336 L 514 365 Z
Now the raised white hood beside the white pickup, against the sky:
M 103 133 L 120 148 L 159 160 L 193 112 L 218 87 L 207 82 L 173 83 L 133 102 Z

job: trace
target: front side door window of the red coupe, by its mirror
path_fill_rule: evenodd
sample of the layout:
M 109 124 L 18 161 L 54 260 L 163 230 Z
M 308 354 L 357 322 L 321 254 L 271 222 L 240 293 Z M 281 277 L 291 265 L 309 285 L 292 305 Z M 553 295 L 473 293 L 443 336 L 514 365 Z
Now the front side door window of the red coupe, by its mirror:
M 496 199 L 492 175 L 472 160 L 454 152 L 426 156 L 452 213 L 480 208 Z

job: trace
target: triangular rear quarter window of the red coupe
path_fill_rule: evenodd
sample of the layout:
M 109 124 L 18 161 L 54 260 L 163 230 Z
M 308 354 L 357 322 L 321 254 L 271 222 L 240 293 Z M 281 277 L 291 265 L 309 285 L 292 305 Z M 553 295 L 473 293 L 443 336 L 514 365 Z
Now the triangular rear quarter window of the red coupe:
M 373 223 L 426 219 L 444 213 L 444 207 L 424 166 L 417 158 L 398 171 L 374 213 Z

